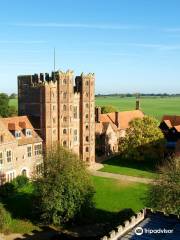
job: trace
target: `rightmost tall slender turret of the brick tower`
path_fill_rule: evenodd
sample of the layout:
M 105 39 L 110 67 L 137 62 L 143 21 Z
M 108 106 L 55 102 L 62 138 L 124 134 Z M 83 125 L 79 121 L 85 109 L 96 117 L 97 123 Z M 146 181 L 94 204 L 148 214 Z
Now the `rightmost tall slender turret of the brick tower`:
M 80 89 L 80 154 L 88 165 L 95 161 L 95 99 L 94 74 L 76 78 Z

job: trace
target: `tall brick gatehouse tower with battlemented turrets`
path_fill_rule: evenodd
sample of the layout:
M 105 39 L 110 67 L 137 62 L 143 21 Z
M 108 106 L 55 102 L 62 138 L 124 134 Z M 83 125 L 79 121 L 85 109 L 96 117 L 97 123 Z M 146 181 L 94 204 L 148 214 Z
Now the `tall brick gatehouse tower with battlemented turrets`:
M 72 71 L 18 76 L 19 115 L 27 115 L 44 141 L 59 142 L 87 164 L 95 161 L 94 74 Z

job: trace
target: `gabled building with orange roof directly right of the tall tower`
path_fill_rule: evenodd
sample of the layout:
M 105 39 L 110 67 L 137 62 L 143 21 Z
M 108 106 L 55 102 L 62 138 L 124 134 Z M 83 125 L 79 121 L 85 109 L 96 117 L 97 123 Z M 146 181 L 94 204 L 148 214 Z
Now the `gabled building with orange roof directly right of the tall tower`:
M 100 107 L 96 114 L 96 151 L 109 155 L 118 151 L 118 140 L 124 137 L 129 123 L 136 118 L 143 118 L 141 110 L 112 112 L 101 114 Z

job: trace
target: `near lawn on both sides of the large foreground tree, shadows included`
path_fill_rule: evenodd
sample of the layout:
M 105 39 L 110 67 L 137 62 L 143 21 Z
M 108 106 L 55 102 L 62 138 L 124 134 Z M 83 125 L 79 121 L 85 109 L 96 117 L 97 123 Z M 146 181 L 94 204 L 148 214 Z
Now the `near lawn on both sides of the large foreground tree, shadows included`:
M 94 176 L 91 178 L 95 187 L 95 209 L 88 214 L 83 224 L 101 223 L 110 230 L 145 207 L 143 198 L 148 185 Z M 9 232 L 30 233 L 41 229 L 31 217 L 33 189 L 30 183 L 3 201 L 13 218 Z

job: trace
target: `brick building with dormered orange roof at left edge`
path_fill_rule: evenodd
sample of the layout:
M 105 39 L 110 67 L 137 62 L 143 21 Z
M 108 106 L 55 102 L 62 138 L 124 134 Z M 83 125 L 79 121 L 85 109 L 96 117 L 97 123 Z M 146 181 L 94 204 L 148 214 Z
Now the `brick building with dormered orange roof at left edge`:
M 0 118 L 0 184 L 42 168 L 42 139 L 26 116 Z

